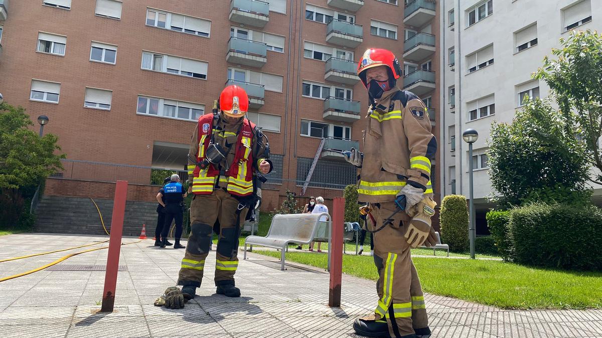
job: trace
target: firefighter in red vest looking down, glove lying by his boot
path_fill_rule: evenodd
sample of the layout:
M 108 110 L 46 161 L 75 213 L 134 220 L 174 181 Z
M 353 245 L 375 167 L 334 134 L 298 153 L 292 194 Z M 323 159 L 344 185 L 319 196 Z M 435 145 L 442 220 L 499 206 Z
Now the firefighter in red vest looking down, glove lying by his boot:
M 166 306 L 179 308 L 194 298 L 203 278 L 214 225 L 219 224 L 215 283 L 217 293 L 240 297 L 234 274 L 238 237 L 249 207 L 258 200 L 258 180 L 272 171 L 267 138 L 249 121 L 249 97 L 237 85 L 226 87 L 213 114 L 199 118 L 188 152 L 191 233 L 177 287 L 166 293 Z M 216 228 L 217 229 L 217 228 Z M 182 299 L 183 298 L 183 299 Z

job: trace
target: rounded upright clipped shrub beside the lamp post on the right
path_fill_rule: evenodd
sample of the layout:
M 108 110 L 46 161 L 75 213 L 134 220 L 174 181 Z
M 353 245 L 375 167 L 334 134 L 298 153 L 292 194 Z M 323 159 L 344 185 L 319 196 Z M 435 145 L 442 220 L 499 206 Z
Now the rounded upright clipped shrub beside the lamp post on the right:
M 466 197 L 447 195 L 441 202 L 441 237 L 450 251 L 468 250 L 468 209 Z

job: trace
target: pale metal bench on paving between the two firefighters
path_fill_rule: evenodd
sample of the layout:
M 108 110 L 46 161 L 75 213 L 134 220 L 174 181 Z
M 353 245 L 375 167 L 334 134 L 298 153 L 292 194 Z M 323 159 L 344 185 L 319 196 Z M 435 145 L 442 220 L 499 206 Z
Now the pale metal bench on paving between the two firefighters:
M 270 224 L 267 236 L 248 236 L 244 240 L 244 257 L 247 259 L 247 244 L 262 245 L 268 248 L 281 249 L 281 270 L 284 270 L 284 254 L 289 243 L 309 244 L 314 240 L 320 224 L 320 217 L 330 215 L 321 214 L 288 214 L 275 215 Z M 327 221 L 330 229 L 330 221 Z

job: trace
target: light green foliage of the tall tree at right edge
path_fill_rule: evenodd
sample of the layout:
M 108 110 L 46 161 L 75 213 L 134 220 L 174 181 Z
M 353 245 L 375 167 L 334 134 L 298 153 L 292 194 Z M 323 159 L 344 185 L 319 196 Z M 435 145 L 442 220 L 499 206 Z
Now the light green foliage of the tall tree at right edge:
M 602 136 L 602 34 L 589 29 L 571 31 L 569 38 L 561 38 L 560 43 L 561 49 L 552 49 L 557 59 L 545 57 L 544 66 L 533 73 L 535 79 L 548 84 L 559 111 L 549 108 L 533 114 L 537 126 L 533 135 L 565 153 L 573 150 L 566 138 L 579 135 L 585 154 L 582 156 L 591 167 L 602 171 L 598 144 Z M 547 123 L 550 119 L 557 123 Z M 591 181 L 602 185 L 602 175 L 597 174 Z

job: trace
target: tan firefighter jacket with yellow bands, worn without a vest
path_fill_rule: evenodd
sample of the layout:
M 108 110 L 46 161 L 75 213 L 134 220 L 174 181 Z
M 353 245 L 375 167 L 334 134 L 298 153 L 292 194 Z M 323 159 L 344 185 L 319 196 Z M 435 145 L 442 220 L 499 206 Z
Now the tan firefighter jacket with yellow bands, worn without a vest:
M 430 132 L 424 102 L 409 91 L 394 88 L 368 108 L 366 120 L 359 201 L 394 201 L 408 183 L 432 194 L 431 161 L 437 142 Z

